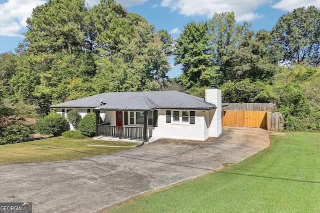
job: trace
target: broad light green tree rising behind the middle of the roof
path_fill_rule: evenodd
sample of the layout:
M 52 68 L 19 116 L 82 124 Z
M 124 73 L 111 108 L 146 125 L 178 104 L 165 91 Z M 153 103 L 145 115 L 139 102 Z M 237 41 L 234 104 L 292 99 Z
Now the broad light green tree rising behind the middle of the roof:
M 135 22 L 136 15 L 133 20 L 132 34 L 121 37 L 117 54 L 107 55 L 105 49 L 96 61 L 93 82 L 99 92 L 160 90 L 164 84 L 169 66 L 160 36 L 145 20 Z

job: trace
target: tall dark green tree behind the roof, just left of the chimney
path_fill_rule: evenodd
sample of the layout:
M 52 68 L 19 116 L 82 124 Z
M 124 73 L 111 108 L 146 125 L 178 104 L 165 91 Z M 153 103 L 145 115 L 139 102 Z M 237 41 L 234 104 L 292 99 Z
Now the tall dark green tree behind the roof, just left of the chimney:
M 174 64 L 182 65 L 182 73 L 188 81 L 184 85 L 187 89 L 199 84 L 204 72 L 209 78 L 215 74 L 211 69 L 212 55 L 207 30 L 207 22 L 191 21 L 175 40 Z

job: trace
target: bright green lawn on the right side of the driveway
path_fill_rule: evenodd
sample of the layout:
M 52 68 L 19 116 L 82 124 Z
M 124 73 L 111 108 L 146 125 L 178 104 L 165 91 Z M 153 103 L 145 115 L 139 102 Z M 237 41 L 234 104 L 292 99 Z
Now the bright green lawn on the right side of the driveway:
M 270 139 L 267 149 L 242 162 L 107 212 L 320 212 L 320 134 Z

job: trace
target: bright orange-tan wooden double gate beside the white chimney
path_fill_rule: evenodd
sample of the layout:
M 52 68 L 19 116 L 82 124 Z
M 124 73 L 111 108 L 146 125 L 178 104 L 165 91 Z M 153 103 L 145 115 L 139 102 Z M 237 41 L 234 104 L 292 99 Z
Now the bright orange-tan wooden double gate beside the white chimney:
M 265 111 L 222 111 L 222 126 L 268 129 L 268 114 Z

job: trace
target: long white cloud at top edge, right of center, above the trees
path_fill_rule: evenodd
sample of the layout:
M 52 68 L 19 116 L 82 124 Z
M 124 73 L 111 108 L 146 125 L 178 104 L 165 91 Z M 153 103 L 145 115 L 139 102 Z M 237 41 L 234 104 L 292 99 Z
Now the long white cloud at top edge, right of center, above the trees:
M 251 21 L 262 15 L 253 11 L 271 0 L 162 0 L 161 6 L 177 10 L 186 16 L 206 15 L 212 18 L 214 12 L 234 11 L 237 21 Z

